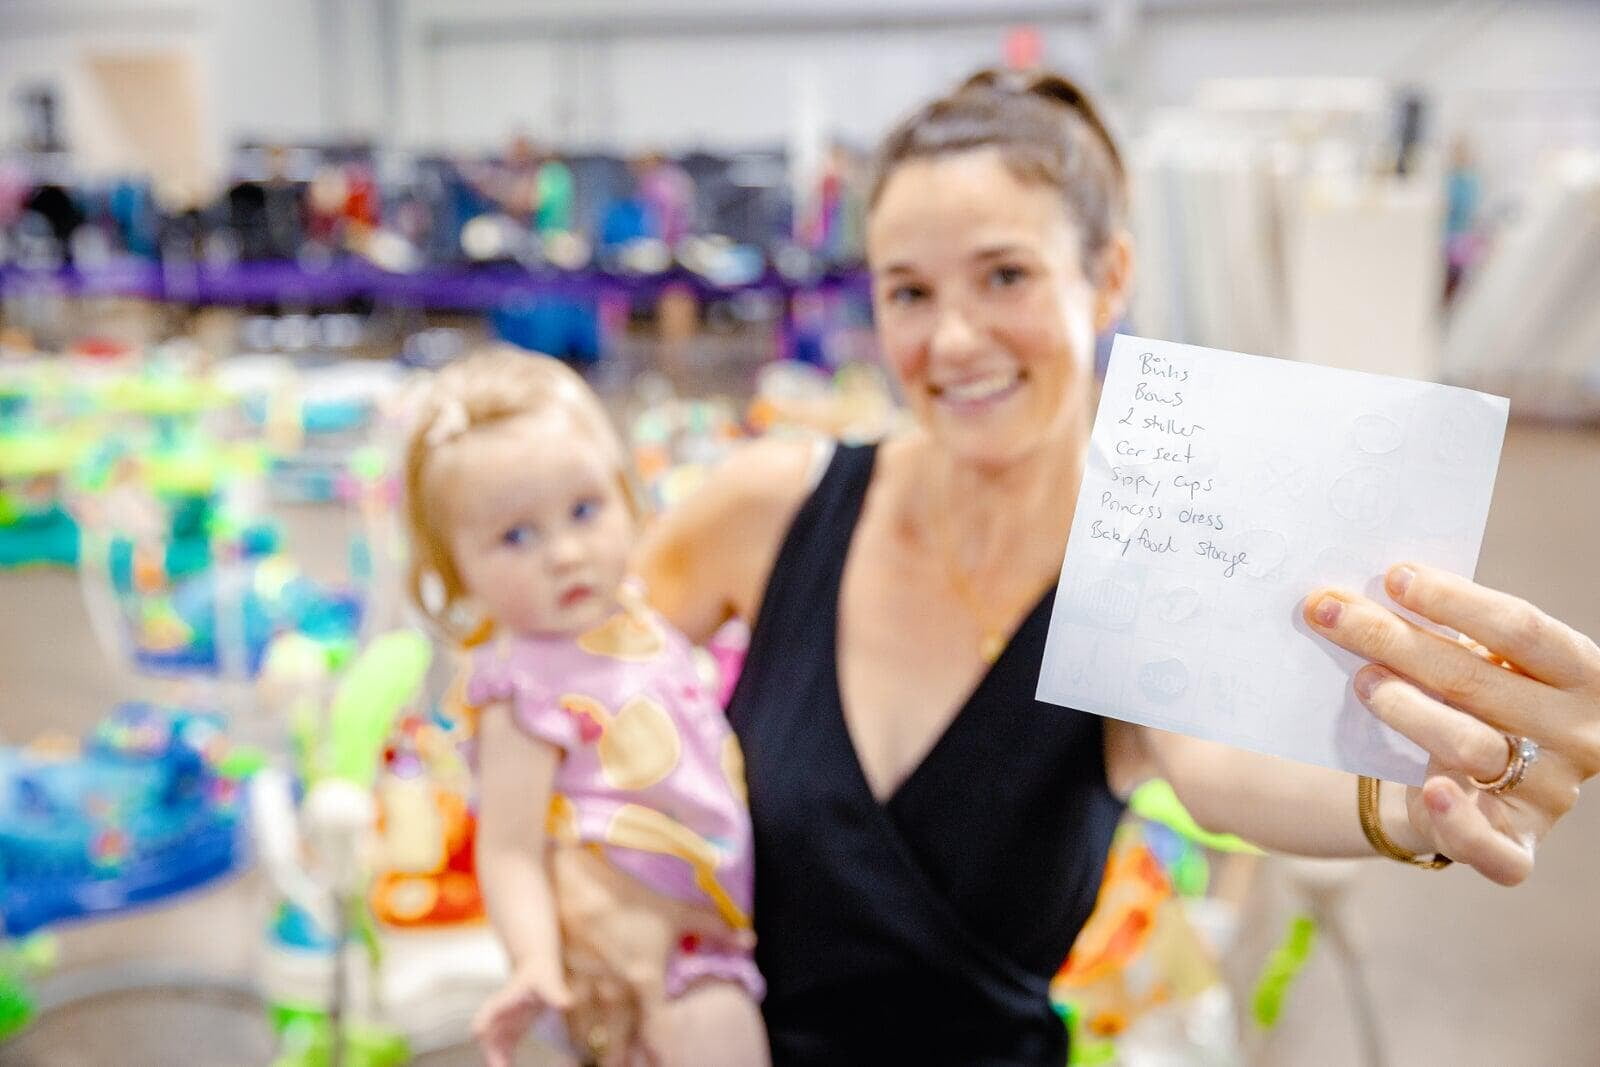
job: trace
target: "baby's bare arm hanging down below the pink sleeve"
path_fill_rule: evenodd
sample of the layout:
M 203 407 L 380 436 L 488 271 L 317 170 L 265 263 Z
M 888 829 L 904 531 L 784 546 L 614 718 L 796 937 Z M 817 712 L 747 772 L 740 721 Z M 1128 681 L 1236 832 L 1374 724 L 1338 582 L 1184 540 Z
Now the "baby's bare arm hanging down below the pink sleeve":
M 512 969 L 560 990 L 562 937 L 544 862 L 544 819 L 560 750 L 518 729 L 506 704 L 483 709 L 477 744 L 483 901 Z

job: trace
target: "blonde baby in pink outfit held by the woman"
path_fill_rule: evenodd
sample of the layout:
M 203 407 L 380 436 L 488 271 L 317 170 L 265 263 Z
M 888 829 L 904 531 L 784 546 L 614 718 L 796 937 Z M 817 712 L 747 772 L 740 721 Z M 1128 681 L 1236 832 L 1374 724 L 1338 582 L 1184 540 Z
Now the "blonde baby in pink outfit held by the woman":
M 485 1059 L 509 1065 L 534 1017 L 571 1003 L 550 875 L 565 846 L 640 886 L 632 915 L 597 926 L 662 931 L 613 976 L 638 1032 L 595 1027 L 579 1048 L 606 1064 L 766 1062 L 744 761 L 688 641 L 626 581 L 640 517 L 598 400 L 542 355 L 446 366 L 406 450 L 406 518 L 413 597 L 469 648 L 478 709 L 478 880 L 512 960 L 475 1021 Z M 696 917 L 726 936 L 699 936 Z

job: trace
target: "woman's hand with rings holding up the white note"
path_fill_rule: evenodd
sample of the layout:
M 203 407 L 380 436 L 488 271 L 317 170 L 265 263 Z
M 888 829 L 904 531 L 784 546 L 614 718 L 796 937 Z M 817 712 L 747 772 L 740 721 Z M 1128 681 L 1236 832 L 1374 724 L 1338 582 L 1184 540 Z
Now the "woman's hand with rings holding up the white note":
M 1422 630 L 1392 609 L 1342 590 L 1306 600 L 1306 621 L 1373 661 L 1355 691 L 1382 721 L 1430 755 L 1411 789 L 1413 851 L 1438 851 L 1501 885 L 1533 870 L 1534 845 L 1600 771 L 1600 648 L 1507 593 L 1430 566 L 1400 565 L 1386 579 L 1395 603 L 1458 630 L 1477 648 Z M 1506 736 L 1531 737 L 1539 758 L 1504 793 Z

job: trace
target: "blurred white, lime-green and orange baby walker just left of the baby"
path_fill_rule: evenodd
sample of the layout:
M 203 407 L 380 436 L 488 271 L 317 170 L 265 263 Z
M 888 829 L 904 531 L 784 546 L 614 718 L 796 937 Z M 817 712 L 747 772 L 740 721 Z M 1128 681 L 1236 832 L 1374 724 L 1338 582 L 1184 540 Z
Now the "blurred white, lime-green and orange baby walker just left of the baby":
M 262 968 L 280 1033 L 275 1067 L 387 1067 L 459 1043 L 504 977 L 482 923 L 470 822 L 451 817 L 466 808 L 422 803 L 434 793 L 419 766 L 405 766 L 410 749 L 442 737 L 427 718 L 406 717 L 386 744 L 427 662 L 414 632 L 376 638 L 342 672 L 323 715 L 330 672 L 318 649 L 290 637 L 269 656 L 266 680 L 288 705 L 299 777 L 296 787 L 269 768 L 253 784 L 262 865 L 282 896 Z

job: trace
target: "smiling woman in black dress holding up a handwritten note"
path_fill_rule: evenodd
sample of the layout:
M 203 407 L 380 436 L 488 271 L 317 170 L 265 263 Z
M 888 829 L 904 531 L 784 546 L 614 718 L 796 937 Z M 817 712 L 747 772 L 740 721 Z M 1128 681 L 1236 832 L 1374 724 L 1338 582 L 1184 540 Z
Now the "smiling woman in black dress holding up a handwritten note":
M 686 633 L 754 624 L 730 717 L 776 1064 L 1064 1062 L 1046 984 L 1152 774 L 1270 849 L 1437 853 L 1514 885 L 1600 769 L 1594 641 L 1427 566 L 1390 569 L 1390 595 L 1486 648 L 1307 590 L 1307 621 L 1373 661 L 1366 705 L 1432 753 L 1426 787 L 1382 797 L 1373 845 L 1349 774 L 1034 701 L 1094 338 L 1131 275 L 1125 202 L 1104 125 L 1059 78 L 978 75 L 914 114 L 883 146 L 867 246 L 917 429 L 821 458 L 750 448 L 642 549 Z M 1525 733 L 1536 765 L 1509 750 Z

